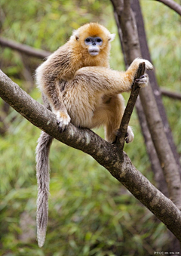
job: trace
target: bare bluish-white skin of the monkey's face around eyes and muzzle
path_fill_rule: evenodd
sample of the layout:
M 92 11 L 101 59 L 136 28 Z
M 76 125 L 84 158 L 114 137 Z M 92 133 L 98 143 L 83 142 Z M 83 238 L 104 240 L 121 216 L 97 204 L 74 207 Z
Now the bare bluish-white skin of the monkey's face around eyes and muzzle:
M 89 36 L 84 39 L 85 45 L 88 45 L 88 52 L 91 56 L 97 56 L 100 53 L 100 45 L 103 45 L 103 39 L 100 37 Z

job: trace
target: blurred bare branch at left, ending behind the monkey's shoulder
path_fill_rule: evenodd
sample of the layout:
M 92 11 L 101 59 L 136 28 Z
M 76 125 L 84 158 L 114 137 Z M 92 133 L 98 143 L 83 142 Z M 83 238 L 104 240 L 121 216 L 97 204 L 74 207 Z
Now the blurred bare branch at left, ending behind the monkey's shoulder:
M 51 54 L 51 52 L 49 51 L 38 50 L 28 45 L 23 45 L 12 40 L 4 39 L 2 37 L 0 37 L 0 45 L 40 59 L 44 59 L 45 57 L 48 57 Z

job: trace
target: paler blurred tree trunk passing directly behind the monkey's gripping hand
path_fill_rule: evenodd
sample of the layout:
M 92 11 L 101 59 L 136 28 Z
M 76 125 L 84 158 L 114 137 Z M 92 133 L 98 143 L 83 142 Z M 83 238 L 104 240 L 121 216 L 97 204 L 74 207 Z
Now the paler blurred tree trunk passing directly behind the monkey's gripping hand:
M 125 59 L 130 64 L 136 57 L 141 56 L 140 42 L 137 34 L 137 26 L 133 17 L 133 11 L 130 9 L 130 1 L 112 0 L 112 5 L 118 15 L 118 26 L 121 29 L 122 46 Z M 158 107 L 151 86 L 146 90 L 140 91 L 140 99 L 143 104 L 146 121 L 164 171 L 164 177 L 167 181 L 170 199 L 181 209 L 181 183 L 179 177 L 179 168 L 173 157 L 172 150 L 164 133 L 164 125 L 161 116 L 158 113 Z

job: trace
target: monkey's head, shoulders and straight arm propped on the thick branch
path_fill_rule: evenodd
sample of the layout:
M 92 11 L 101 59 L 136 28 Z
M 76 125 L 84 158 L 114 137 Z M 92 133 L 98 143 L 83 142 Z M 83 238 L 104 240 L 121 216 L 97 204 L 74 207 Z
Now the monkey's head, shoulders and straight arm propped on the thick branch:
M 65 82 L 84 66 L 109 67 L 110 44 L 115 38 L 104 26 L 87 23 L 75 30 L 65 45 L 51 54 L 36 70 L 36 82 L 44 86 L 52 111 L 57 115 L 59 127 L 64 131 L 70 122 L 63 104 Z

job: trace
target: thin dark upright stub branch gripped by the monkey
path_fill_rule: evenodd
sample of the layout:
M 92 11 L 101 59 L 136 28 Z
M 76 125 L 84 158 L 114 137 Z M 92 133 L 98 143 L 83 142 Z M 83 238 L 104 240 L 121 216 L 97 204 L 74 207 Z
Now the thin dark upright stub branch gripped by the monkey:
M 140 76 L 143 76 L 144 72 L 145 72 L 145 63 L 140 63 L 137 71 L 137 76 L 135 77 L 135 79 L 139 79 Z M 137 82 L 134 82 L 129 100 L 127 102 L 126 109 L 124 110 L 124 115 L 121 120 L 121 125 L 118 131 L 118 140 L 116 141 L 116 143 L 120 148 L 120 150 L 123 150 L 124 148 L 124 141 L 127 134 L 127 127 L 130 122 L 130 116 L 133 113 L 133 107 L 137 101 L 139 92 L 140 92 L 140 87 L 137 86 Z

